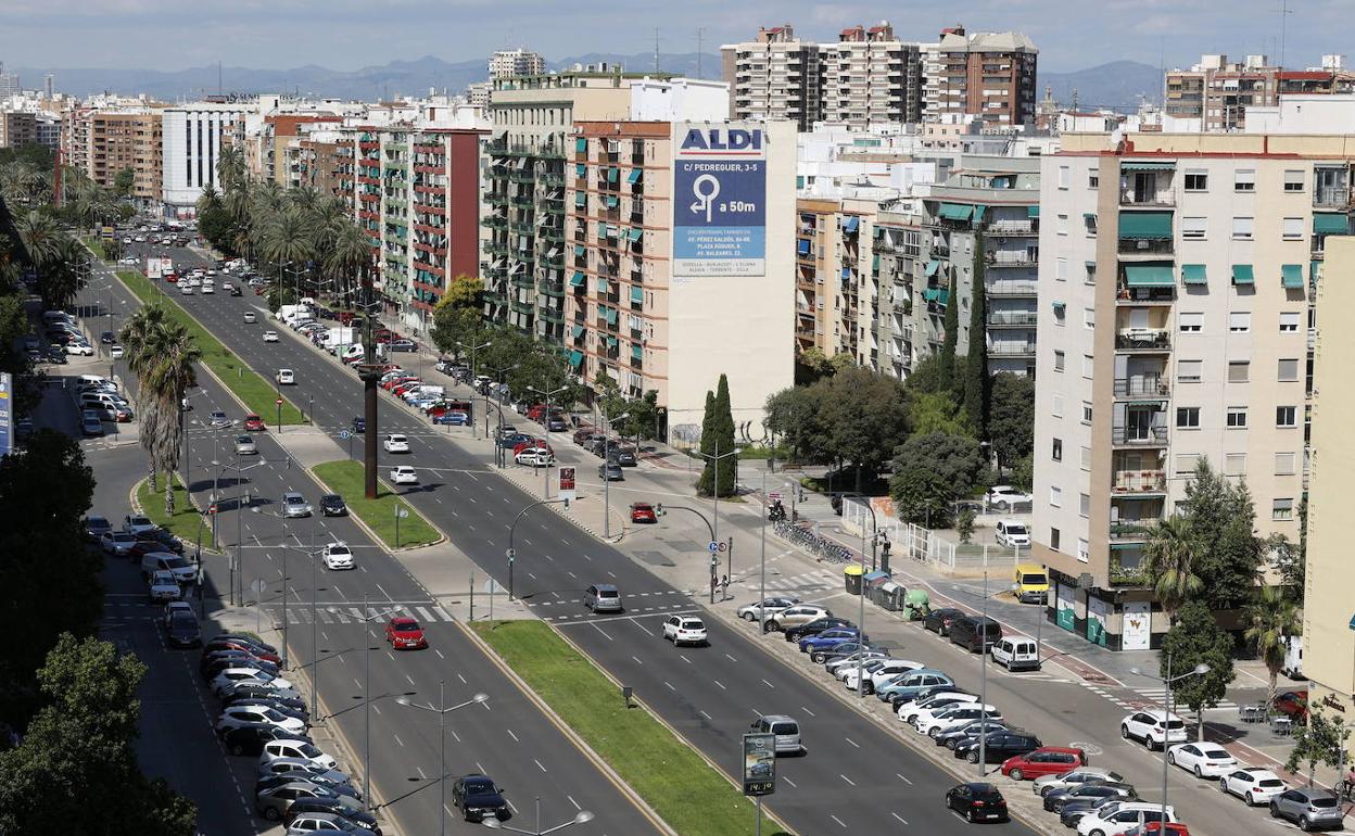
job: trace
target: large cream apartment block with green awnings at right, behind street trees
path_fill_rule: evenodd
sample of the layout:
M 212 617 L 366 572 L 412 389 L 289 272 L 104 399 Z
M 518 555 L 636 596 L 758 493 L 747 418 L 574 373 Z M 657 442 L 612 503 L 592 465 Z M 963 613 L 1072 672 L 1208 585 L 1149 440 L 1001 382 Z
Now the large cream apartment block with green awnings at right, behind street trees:
M 1127 133 L 1041 160 L 1033 539 L 1058 626 L 1159 645 L 1142 549 L 1201 459 L 1298 541 L 1310 287 L 1352 156 L 1335 131 Z

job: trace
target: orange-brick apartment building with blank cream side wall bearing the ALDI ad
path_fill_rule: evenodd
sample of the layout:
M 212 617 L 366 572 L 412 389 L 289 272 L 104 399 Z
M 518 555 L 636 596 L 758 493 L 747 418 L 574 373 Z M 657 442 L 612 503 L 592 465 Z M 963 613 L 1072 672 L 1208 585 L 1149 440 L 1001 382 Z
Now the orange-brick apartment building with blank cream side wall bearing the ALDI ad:
M 794 125 L 576 121 L 569 148 L 565 236 L 545 252 L 569 274 L 569 367 L 656 392 L 684 436 L 725 373 L 734 421 L 760 421 L 794 382 Z

